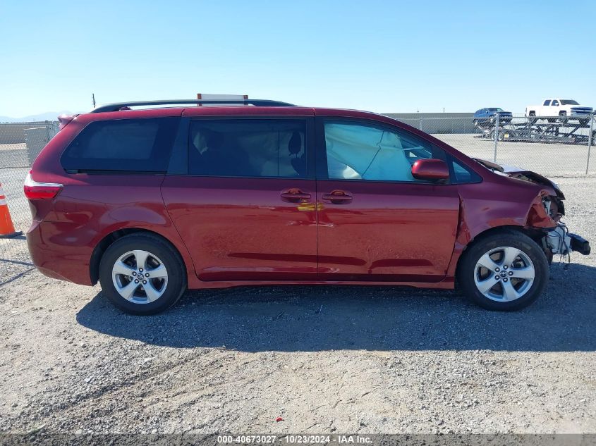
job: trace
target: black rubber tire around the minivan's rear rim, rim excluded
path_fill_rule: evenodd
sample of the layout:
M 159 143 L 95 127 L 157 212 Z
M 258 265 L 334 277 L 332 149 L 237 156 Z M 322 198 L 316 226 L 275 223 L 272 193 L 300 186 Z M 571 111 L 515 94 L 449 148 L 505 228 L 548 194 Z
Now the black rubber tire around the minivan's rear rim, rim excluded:
M 114 285 L 114 280 L 116 279 L 112 278 L 112 268 L 114 268 L 116 261 L 124 254 L 135 250 L 149 252 L 154 256 L 150 257 L 149 261 L 158 259 L 167 270 L 167 280 L 165 283 L 160 283 L 159 279 L 149 279 L 152 283 L 158 280 L 157 283 L 158 285 L 161 284 L 160 289 L 163 292 L 153 302 L 130 302 L 130 300 L 120 295 L 118 290 L 116 290 L 116 285 Z M 133 269 L 135 268 L 133 267 Z M 148 271 L 150 272 L 151 270 L 149 269 Z M 169 309 L 169 307 L 176 304 L 186 290 L 186 280 L 186 268 L 180 254 L 169 242 L 166 242 L 157 235 L 147 233 L 125 235 L 106 249 L 102 260 L 99 262 L 99 283 L 102 285 L 103 294 L 114 306 L 128 314 L 150 315 Z M 139 284 L 139 286 L 140 289 L 135 291 L 135 293 L 144 295 L 145 291 L 142 290 L 142 284 Z

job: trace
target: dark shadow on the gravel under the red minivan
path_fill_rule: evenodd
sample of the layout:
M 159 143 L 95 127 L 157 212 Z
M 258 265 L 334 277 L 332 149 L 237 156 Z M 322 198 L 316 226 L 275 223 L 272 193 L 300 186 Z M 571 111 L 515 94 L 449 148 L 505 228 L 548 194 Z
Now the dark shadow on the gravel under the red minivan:
M 523 311 L 478 308 L 456 292 L 398 287 L 284 286 L 189 291 L 157 316 L 129 316 L 101 293 L 77 314 L 99 333 L 166 347 L 245 352 L 596 349 L 596 268 L 551 268 Z

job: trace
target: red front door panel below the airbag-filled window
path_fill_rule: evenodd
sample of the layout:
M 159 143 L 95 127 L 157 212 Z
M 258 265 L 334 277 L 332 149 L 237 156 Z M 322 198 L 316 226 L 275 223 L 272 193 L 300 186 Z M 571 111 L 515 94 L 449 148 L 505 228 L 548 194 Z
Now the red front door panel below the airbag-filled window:
M 320 180 L 322 280 L 438 282 L 458 225 L 457 186 Z

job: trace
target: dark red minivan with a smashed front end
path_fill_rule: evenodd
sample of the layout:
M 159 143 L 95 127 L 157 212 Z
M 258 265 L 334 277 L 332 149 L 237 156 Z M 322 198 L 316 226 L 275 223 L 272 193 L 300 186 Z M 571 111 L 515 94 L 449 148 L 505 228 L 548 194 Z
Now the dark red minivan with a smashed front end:
M 32 260 L 99 280 L 132 314 L 187 287 L 281 283 L 457 285 L 487 309 L 521 309 L 553 254 L 590 252 L 561 223 L 553 182 L 375 113 L 146 101 L 61 128 L 25 182 Z

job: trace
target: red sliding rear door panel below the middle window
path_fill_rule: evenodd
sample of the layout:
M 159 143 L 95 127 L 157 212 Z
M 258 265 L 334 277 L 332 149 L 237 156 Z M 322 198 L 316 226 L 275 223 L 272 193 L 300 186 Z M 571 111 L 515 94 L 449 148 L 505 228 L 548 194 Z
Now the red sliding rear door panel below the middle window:
M 162 195 L 201 280 L 317 278 L 315 180 L 172 175 Z

